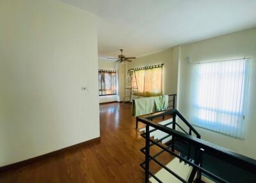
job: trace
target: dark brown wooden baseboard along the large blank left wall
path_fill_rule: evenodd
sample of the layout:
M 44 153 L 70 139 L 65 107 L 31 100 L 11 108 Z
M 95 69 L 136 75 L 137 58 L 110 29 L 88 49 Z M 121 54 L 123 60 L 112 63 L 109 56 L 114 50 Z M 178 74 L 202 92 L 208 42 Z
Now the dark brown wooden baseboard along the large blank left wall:
M 85 145 L 89 145 L 91 143 L 100 143 L 100 137 L 93 138 L 93 139 L 90 139 L 88 141 L 84 141 L 82 143 L 77 143 L 76 145 L 72 145 L 72 146 L 69 146 L 69 147 L 61 148 L 60 150 L 55 150 L 55 151 L 49 152 L 47 154 L 32 157 L 32 158 L 26 159 L 24 161 L 19 161 L 17 163 L 12 163 L 12 164 L 7 164 L 5 166 L 1 166 L 0 167 L 0 173 L 2 173 L 4 171 L 11 170 L 11 169 L 20 168 L 21 166 L 26 166 L 26 165 L 31 164 L 31 163 L 35 163 L 35 162 L 40 161 L 42 159 L 45 159 L 47 157 L 58 155 L 58 154 L 61 154 L 61 153 L 64 153 L 64 152 L 67 152 L 67 151 L 70 151 L 70 150 L 75 150 L 76 148 L 84 147 Z

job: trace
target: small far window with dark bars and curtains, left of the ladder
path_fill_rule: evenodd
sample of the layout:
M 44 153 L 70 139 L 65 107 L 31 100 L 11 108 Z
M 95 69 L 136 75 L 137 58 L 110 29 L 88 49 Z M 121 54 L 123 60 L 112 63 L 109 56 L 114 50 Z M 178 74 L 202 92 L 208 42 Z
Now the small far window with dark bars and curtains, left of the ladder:
M 115 70 L 99 70 L 99 95 L 116 95 Z

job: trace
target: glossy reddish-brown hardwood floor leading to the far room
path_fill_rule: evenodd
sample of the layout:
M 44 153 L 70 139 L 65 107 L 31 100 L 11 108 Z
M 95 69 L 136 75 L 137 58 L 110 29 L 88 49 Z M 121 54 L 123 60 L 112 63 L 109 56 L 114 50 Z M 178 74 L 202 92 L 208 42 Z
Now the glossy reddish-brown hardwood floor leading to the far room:
M 100 105 L 100 138 L 100 143 L 0 173 L 0 182 L 143 182 L 140 163 L 145 156 L 140 148 L 145 140 L 135 129 L 130 104 Z M 155 154 L 159 149 L 150 151 Z M 173 157 L 163 153 L 158 159 L 168 163 Z M 150 170 L 156 172 L 159 166 L 151 163 Z

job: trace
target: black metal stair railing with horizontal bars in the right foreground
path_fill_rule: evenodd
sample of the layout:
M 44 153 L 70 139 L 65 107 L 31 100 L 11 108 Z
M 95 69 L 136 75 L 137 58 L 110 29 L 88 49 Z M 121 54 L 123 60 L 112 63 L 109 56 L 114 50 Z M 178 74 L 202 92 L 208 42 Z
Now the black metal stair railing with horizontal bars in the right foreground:
M 179 111 L 176 109 L 172 109 L 169 111 L 164 111 L 162 115 L 166 114 L 171 114 L 173 116 L 182 116 Z M 221 161 L 224 161 L 229 164 L 233 164 L 234 166 L 237 166 L 239 168 L 242 168 L 243 170 L 249 171 L 251 173 L 256 173 L 256 161 L 254 159 L 250 159 L 249 157 L 245 157 L 244 155 L 241 154 L 236 154 L 235 152 L 232 152 L 230 150 L 227 150 L 225 148 L 219 147 L 218 145 L 214 145 L 212 143 L 209 143 L 207 141 L 204 141 L 202 139 L 196 138 L 194 136 L 191 136 L 190 131 L 195 132 L 193 128 L 189 129 L 189 134 L 184 134 L 183 132 L 176 131 L 175 129 L 171 129 L 170 127 L 165 127 L 164 125 L 161 125 L 159 123 L 152 122 L 151 120 L 155 117 L 159 117 L 159 113 L 155 116 L 150 116 L 149 118 L 139 118 L 140 122 L 145 123 L 146 125 L 146 134 L 144 135 L 146 139 L 146 147 L 141 149 L 141 152 L 145 154 L 145 163 L 141 163 L 140 166 L 145 169 L 145 182 L 148 182 L 148 175 L 152 175 L 152 172 L 149 171 L 149 161 L 155 161 L 157 155 L 163 153 L 163 152 L 168 152 L 172 154 L 173 156 L 179 158 L 180 160 L 184 161 L 185 163 L 188 163 L 189 165 L 193 166 L 193 173 L 191 173 L 191 176 L 189 177 L 189 182 L 193 180 L 193 176 L 195 176 L 195 171 L 198 171 L 199 175 L 200 173 L 204 173 L 205 175 L 212 177 L 212 179 L 217 180 L 218 182 L 228 182 L 227 180 L 219 177 L 218 175 L 214 175 L 214 173 L 205 170 L 205 168 L 202 167 L 202 154 L 210 154 L 213 157 L 216 157 L 218 159 L 221 159 Z M 161 116 L 161 115 L 160 115 Z M 182 116 L 182 118 L 184 118 Z M 182 120 L 183 121 L 183 120 Z M 175 121 L 174 121 L 175 122 Z M 188 122 L 188 121 L 186 121 Z M 185 123 L 186 123 L 185 122 Z M 190 124 L 190 123 L 189 123 Z M 188 125 L 190 126 L 190 125 Z M 180 141 L 184 141 L 189 143 L 192 147 L 195 148 L 196 154 L 195 157 L 198 159 L 195 159 L 195 163 L 189 161 L 189 159 L 186 159 L 185 157 L 182 157 L 179 154 L 176 154 L 174 150 L 170 149 L 170 147 L 166 147 L 162 143 L 159 143 L 159 141 L 154 141 L 153 139 L 150 139 L 150 132 L 149 132 L 149 127 L 154 127 L 155 129 L 159 131 L 163 131 L 166 134 L 172 136 L 174 139 L 179 139 Z M 198 133 L 198 132 L 197 132 Z M 196 136 L 200 136 L 200 134 L 196 134 Z M 157 153 L 156 155 L 150 155 L 150 146 L 152 144 L 156 145 L 159 148 L 162 148 L 161 152 Z M 161 164 L 160 162 L 156 162 L 160 166 L 162 166 L 164 169 L 166 169 L 166 166 Z M 145 164 L 145 166 L 143 166 Z M 169 171 L 169 173 L 172 173 L 172 170 Z M 172 173 L 173 175 L 173 173 Z M 173 175 L 179 179 L 179 175 Z M 156 177 L 156 176 L 154 176 Z M 158 178 L 157 178 L 158 179 Z M 159 180 L 159 179 L 158 179 Z M 158 181 L 157 180 L 157 181 Z M 180 179 L 179 179 L 180 180 Z M 187 182 L 186 180 L 181 180 L 182 182 Z

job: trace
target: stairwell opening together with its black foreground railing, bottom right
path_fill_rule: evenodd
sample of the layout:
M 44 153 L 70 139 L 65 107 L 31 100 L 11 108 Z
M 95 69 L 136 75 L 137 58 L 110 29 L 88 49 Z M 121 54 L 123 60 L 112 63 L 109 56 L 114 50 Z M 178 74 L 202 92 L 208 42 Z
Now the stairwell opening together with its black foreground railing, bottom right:
M 154 122 L 168 115 L 172 118 Z M 141 148 L 145 161 L 140 164 L 145 170 L 145 182 L 256 182 L 254 159 L 200 139 L 200 134 L 177 109 L 143 116 L 138 122 L 145 124 L 141 133 L 145 138 L 145 147 Z M 150 149 L 154 146 L 160 150 L 152 154 Z M 163 153 L 175 158 L 163 163 L 157 158 Z M 152 162 L 161 170 L 150 171 Z

